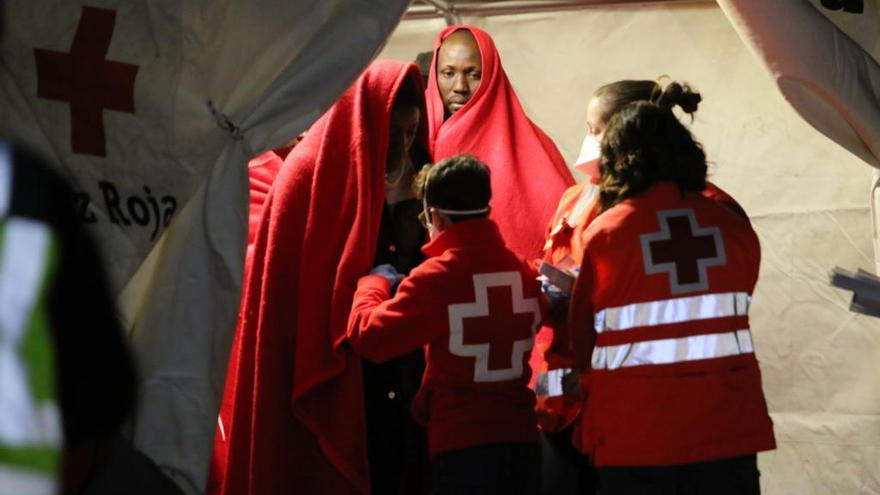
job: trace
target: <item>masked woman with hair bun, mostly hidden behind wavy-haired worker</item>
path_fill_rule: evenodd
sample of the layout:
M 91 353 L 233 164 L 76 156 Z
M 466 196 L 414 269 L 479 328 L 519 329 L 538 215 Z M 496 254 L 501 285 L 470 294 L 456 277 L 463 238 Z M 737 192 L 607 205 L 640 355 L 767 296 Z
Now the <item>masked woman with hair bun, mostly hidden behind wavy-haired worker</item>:
M 575 168 L 588 178 L 569 187 L 547 228 L 543 261 L 561 270 L 580 267 L 587 228 L 601 212 L 599 205 L 599 143 L 608 121 L 629 103 L 651 101 L 664 108 L 678 108 L 693 119 L 702 101 L 700 93 L 687 83 L 677 81 L 620 80 L 600 86 L 587 105 L 587 135 L 575 162 Z M 702 194 L 739 214 L 748 215 L 730 195 L 706 181 Z M 542 480 L 545 492 L 594 493 L 595 476 L 589 459 L 572 445 L 572 424 L 583 404 L 578 383 L 581 370 L 566 353 L 550 349 L 552 329 L 543 327 L 535 336 L 530 364 L 537 395 L 538 424 L 543 430 L 544 450 Z M 577 438 L 575 438 L 577 440 Z

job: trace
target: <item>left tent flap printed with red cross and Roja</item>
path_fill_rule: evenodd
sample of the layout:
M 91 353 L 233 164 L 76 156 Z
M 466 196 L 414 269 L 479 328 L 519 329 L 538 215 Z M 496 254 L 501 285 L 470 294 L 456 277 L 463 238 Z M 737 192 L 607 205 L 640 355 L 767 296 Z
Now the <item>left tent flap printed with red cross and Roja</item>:
M 4 2 L 27 22 L 4 26 L 0 134 L 73 183 L 140 358 L 132 439 L 188 493 L 238 307 L 245 164 L 317 119 L 408 3 Z

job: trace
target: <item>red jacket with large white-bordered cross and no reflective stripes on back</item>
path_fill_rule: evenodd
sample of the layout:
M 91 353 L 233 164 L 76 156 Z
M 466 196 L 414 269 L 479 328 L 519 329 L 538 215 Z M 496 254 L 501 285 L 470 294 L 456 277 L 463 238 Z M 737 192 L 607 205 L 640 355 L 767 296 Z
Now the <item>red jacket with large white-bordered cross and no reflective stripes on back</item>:
M 389 297 L 378 275 L 358 282 L 348 324 L 356 352 L 385 361 L 426 347 L 413 401 L 431 455 L 537 442 L 527 365 L 541 321 L 535 273 L 490 220 L 455 224 L 425 245 L 429 259 Z

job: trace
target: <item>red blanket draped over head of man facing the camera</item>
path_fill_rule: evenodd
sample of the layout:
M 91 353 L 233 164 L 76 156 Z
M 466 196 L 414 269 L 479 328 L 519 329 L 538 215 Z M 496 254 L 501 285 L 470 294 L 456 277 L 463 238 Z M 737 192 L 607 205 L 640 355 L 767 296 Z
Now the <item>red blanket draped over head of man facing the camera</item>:
M 444 122 L 437 51 L 459 29 L 467 29 L 477 40 L 482 79 L 467 104 Z M 526 116 L 485 31 L 452 26 L 440 33 L 425 99 L 434 158 L 471 153 L 485 162 L 492 171 L 491 218 L 510 249 L 529 259 L 539 257 L 556 203 L 574 179 L 553 141 Z

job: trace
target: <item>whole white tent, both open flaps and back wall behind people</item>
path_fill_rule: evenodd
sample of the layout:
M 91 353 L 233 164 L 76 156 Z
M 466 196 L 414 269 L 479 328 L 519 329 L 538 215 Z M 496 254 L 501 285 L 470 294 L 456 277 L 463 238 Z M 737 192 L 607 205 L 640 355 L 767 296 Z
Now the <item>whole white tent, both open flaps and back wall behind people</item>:
M 238 300 L 246 157 L 317 118 L 409 2 L 88 2 L 115 12 L 105 59 L 139 66 L 140 113 L 104 112 L 120 131 L 107 133 L 104 158 L 71 152 L 67 104 L 38 91 L 34 50 L 71 51 L 82 2 L 4 3 L 7 19 L 27 22 L 7 23 L 0 132 L 97 198 L 89 211 L 142 361 L 133 438 L 198 492 Z M 447 22 L 486 29 L 526 111 L 569 161 L 599 85 L 668 74 L 697 87 L 692 129 L 713 180 L 750 213 L 763 247 L 752 324 L 779 442 L 759 458 L 764 492 L 880 493 L 880 322 L 848 312 L 848 295 L 827 283 L 834 265 L 878 259 L 880 192 L 864 163 L 880 156 L 878 1 L 720 3 L 425 0 L 380 57 L 414 60 Z M 98 183 L 108 180 L 129 214 L 167 187 L 178 205 L 165 234 L 164 215 L 153 215 L 165 221 L 156 234 L 111 221 Z

